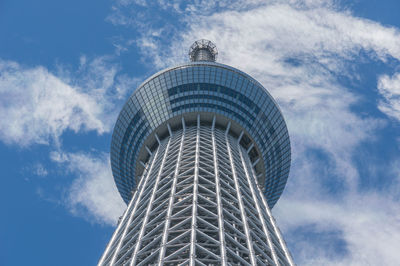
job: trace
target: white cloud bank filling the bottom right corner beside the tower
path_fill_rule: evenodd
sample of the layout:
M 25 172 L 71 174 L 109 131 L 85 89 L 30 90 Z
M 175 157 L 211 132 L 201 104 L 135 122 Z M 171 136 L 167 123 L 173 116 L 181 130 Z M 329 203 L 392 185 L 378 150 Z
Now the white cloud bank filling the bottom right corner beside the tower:
M 335 201 L 289 197 L 279 204 L 279 224 L 290 232 L 286 239 L 301 242 L 293 245 L 299 265 L 397 265 L 399 261 L 400 205 L 391 196 L 369 191 Z M 297 236 L 296 228 L 307 226 L 312 227 L 307 233 L 317 238 L 304 241 Z M 321 241 L 324 234 L 330 234 L 329 241 Z M 337 244 L 344 253 L 340 256 Z

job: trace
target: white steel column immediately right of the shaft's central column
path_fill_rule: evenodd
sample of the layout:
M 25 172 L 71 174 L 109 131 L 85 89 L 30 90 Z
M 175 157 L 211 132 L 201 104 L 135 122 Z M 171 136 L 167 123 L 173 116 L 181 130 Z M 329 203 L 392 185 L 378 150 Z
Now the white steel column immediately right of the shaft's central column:
M 213 145 L 213 157 L 214 157 L 214 175 L 215 175 L 215 194 L 217 197 L 217 208 L 218 208 L 218 229 L 219 229 L 219 242 L 221 249 L 221 265 L 226 265 L 226 247 L 225 247 L 225 232 L 224 232 L 224 217 L 221 200 L 221 187 L 219 183 L 219 169 L 218 169 L 218 158 L 217 149 L 215 143 L 215 116 L 211 126 L 211 141 Z

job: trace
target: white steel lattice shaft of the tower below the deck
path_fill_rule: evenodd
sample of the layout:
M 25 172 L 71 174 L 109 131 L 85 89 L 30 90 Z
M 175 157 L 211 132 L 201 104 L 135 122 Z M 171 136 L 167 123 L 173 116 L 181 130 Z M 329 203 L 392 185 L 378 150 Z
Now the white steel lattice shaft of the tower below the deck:
M 294 265 L 243 134 L 167 126 L 99 265 Z

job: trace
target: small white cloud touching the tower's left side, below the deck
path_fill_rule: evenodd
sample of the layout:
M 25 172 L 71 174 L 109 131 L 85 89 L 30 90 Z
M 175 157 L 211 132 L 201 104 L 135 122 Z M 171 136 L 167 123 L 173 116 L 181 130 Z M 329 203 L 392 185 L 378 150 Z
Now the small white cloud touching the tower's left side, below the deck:
M 53 152 L 51 159 L 77 176 L 67 189 L 69 210 L 91 222 L 115 225 L 126 205 L 112 178 L 109 155 Z

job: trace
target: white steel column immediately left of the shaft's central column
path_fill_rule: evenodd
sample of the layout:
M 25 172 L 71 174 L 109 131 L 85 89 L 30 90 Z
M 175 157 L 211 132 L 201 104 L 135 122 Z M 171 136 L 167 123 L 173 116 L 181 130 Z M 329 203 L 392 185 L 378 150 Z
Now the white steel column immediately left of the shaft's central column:
M 167 245 L 167 240 L 168 240 L 168 230 L 169 230 L 169 225 L 171 222 L 172 207 L 173 207 L 174 200 L 175 200 L 176 183 L 178 181 L 179 166 L 181 164 L 183 142 L 185 140 L 186 127 L 185 127 L 185 122 L 184 122 L 183 118 L 182 118 L 182 127 L 183 127 L 183 132 L 182 132 L 182 137 L 181 137 L 181 143 L 179 145 L 179 153 L 178 153 L 178 158 L 177 158 L 175 171 L 174 171 L 174 180 L 172 183 L 171 194 L 170 194 L 170 198 L 169 198 L 169 202 L 168 202 L 167 216 L 166 216 L 166 220 L 165 220 L 163 236 L 162 236 L 162 241 L 161 241 L 160 258 L 159 258 L 159 263 L 158 263 L 158 265 L 160 265 L 160 266 L 164 264 L 165 250 L 166 250 L 166 245 Z M 171 134 L 170 138 L 172 138 L 172 131 L 171 131 L 169 124 L 168 124 L 168 130 Z

